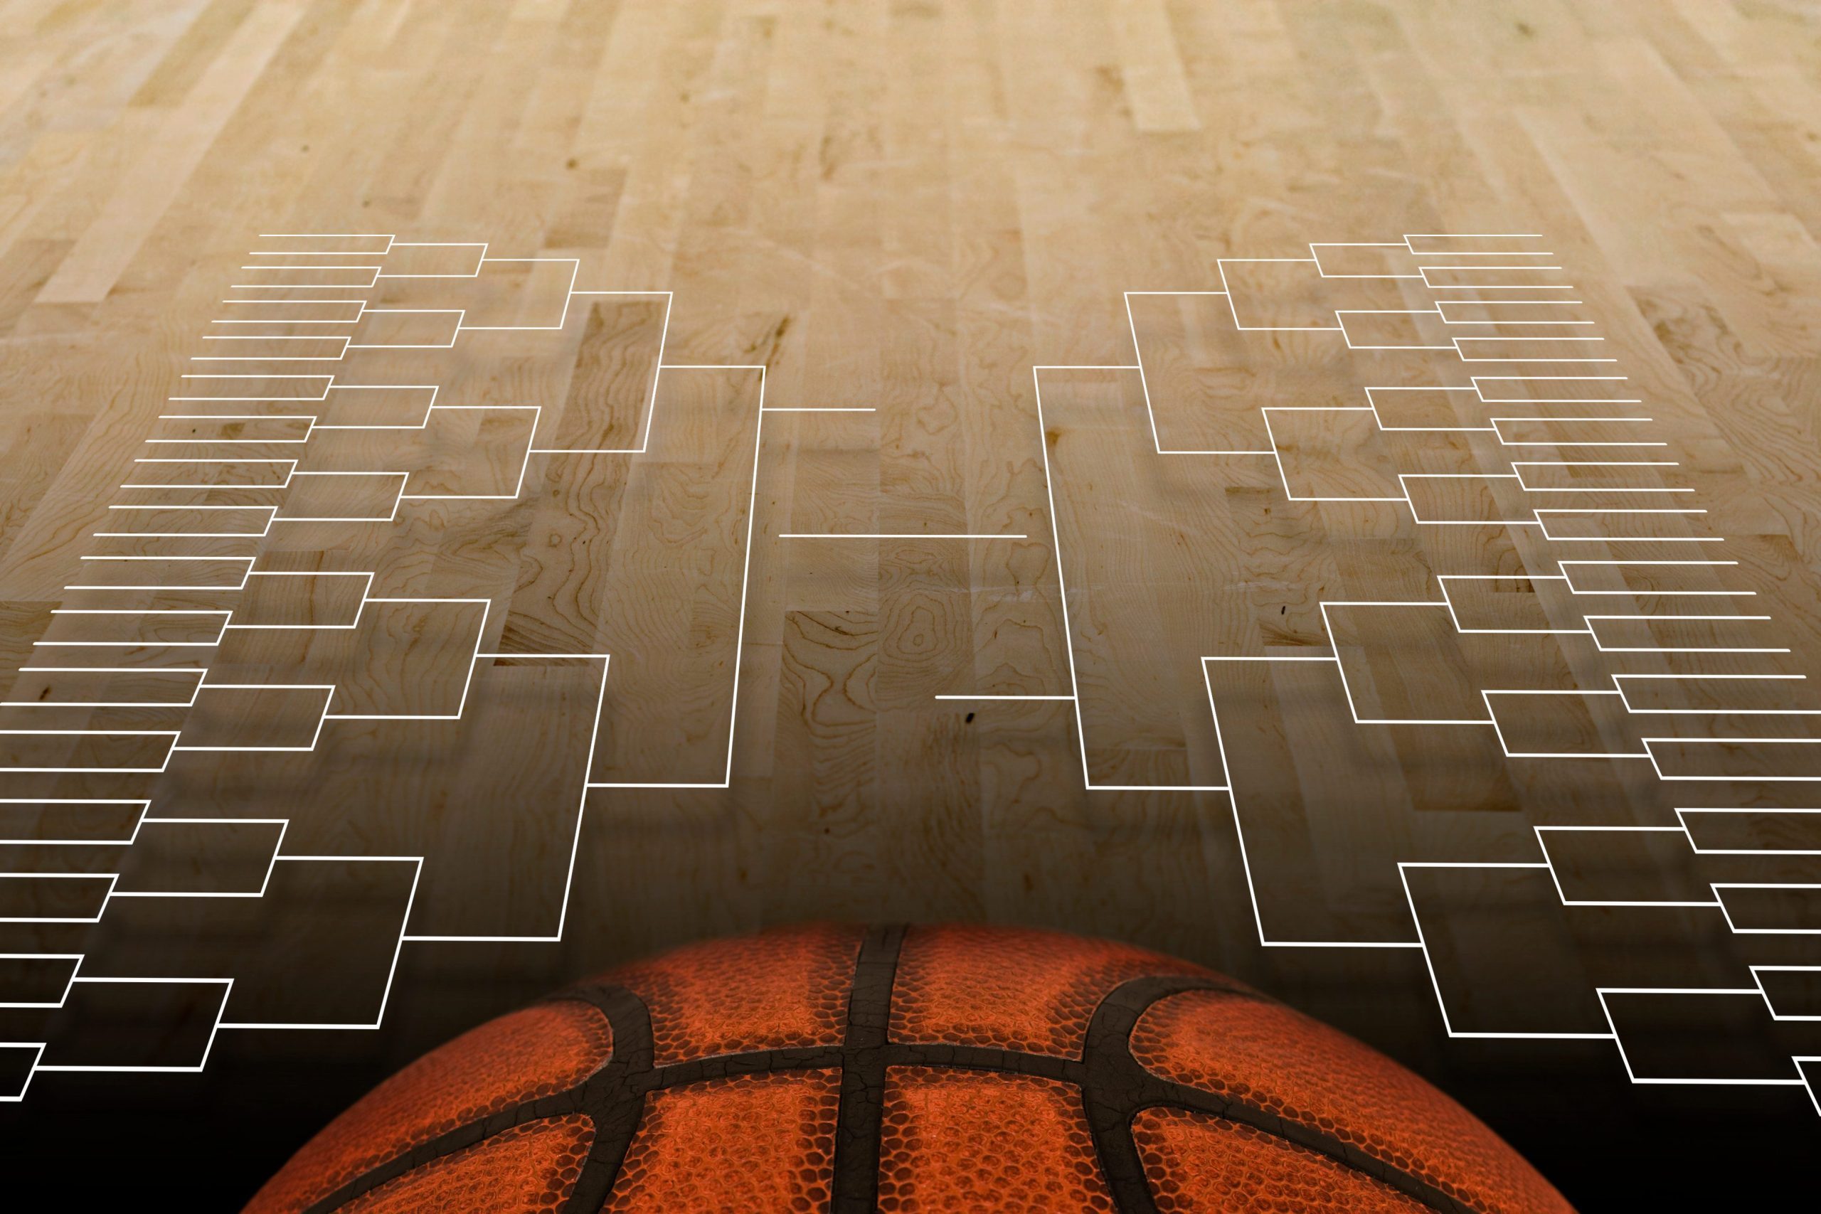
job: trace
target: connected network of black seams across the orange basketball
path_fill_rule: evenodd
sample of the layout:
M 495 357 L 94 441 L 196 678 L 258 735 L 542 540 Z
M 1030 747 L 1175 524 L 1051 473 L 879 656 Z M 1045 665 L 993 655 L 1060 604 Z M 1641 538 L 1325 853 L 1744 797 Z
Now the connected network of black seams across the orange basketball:
M 790 1070 L 841 1068 L 841 1108 L 836 1123 L 836 1189 L 830 1214 L 861 1214 L 878 1199 L 880 1119 L 883 1116 L 885 1074 L 890 1067 L 932 1067 L 985 1070 L 996 1074 L 1038 1076 L 1071 1083 L 1082 1092 L 1082 1108 L 1100 1156 L 1100 1170 L 1118 1214 L 1155 1214 L 1156 1203 L 1144 1176 L 1144 1163 L 1133 1141 L 1133 1119 L 1145 1108 L 1182 1108 L 1249 1125 L 1328 1156 L 1364 1172 L 1431 1210 L 1477 1214 L 1473 1207 L 1435 1189 L 1402 1168 L 1369 1156 L 1351 1143 L 1324 1134 L 1300 1121 L 1284 1119 L 1244 1099 L 1222 1098 L 1200 1088 L 1162 1079 L 1145 1070 L 1131 1054 L 1131 1030 L 1156 1001 L 1191 990 L 1229 997 L 1269 1001 L 1235 983 L 1207 977 L 1138 977 L 1113 988 L 1094 1008 L 1080 1059 L 976 1045 L 894 1043 L 887 1041 L 890 1019 L 890 981 L 896 972 L 903 928 L 869 932 L 856 961 L 856 990 L 867 983 L 863 999 L 849 997 L 847 1039 L 843 1045 L 788 1047 L 716 1054 L 710 1057 L 654 1067 L 650 1014 L 643 1001 L 619 986 L 574 986 L 550 1001 L 590 1003 L 614 1028 L 614 1057 L 583 1083 L 552 1096 L 524 1101 L 488 1118 L 455 1127 L 437 1138 L 362 1172 L 335 1192 L 320 1198 L 304 1214 L 333 1214 L 339 1207 L 379 1189 L 390 1179 L 526 1121 L 588 1114 L 595 1127 L 588 1161 L 565 1214 L 595 1214 L 612 1192 L 632 1138 L 639 1130 L 648 1092 L 723 1079 L 732 1076 Z M 880 997 L 878 990 L 885 994 Z M 858 1005 L 858 1007 L 856 1007 Z M 852 1090 L 852 1096 L 849 1092 Z M 841 1187 L 845 1185 L 845 1187 Z

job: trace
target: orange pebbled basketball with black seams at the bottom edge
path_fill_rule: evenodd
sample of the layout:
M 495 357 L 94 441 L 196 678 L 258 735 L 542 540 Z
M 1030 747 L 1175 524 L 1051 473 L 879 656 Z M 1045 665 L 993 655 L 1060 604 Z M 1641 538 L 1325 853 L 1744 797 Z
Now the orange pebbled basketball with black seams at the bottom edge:
M 1397 1063 L 1209 970 L 989 926 L 692 945 L 426 1054 L 249 1214 L 1568 1210 Z

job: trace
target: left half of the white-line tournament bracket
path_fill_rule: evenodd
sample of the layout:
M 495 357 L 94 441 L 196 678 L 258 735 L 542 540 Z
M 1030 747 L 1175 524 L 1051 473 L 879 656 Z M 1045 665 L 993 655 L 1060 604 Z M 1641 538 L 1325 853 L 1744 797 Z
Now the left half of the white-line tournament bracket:
M 563 936 L 590 788 L 727 786 L 765 369 L 668 313 L 260 237 L 0 706 L 9 1099 L 377 1027 L 412 943 Z

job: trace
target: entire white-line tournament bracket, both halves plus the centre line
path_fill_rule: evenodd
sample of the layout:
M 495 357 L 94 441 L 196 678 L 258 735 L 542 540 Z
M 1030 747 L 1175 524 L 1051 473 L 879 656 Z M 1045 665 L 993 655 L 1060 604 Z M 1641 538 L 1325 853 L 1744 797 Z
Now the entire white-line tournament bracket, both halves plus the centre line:
M 1231 814 L 1258 941 L 1417 952 L 1451 1036 L 1810 1083 L 1821 699 L 1661 349 L 1533 235 L 1211 269 L 1033 368 L 1047 519 L 914 533 L 1047 541 L 1069 641 L 938 699 Z M 785 410 L 670 302 L 259 238 L 0 708 L 9 1099 L 373 1028 L 413 943 L 563 937 L 590 797 L 728 788 L 754 526 L 912 535 L 758 517 Z

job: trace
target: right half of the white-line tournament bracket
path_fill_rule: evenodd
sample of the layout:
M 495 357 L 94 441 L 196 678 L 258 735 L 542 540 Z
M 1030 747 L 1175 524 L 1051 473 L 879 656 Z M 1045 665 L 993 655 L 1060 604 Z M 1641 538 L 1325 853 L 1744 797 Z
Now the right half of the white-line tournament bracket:
M 1537 235 L 1215 269 L 1036 368 L 1083 779 L 1227 792 L 1260 943 L 1450 1036 L 1814 1098 L 1821 697 L 1661 346 Z

